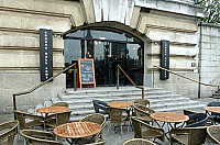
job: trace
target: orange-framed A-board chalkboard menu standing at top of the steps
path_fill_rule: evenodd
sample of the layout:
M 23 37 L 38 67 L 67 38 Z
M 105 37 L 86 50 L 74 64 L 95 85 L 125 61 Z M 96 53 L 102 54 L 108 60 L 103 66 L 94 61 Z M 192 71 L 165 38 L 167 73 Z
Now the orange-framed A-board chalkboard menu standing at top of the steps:
M 78 67 L 79 67 L 80 89 L 82 88 L 82 85 L 92 85 L 92 83 L 94 88 L 96 89 L 94 59 L 79 58 Z

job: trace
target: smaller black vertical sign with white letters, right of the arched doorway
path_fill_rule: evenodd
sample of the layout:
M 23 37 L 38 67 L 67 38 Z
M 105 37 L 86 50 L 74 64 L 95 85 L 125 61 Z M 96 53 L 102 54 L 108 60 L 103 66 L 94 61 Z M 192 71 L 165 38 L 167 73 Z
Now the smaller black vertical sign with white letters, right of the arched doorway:
M 161 41 L 161 67 L 169 69 L 169 41 Z M 161 69 L 161 79 L 166 80 L 169 72 Z

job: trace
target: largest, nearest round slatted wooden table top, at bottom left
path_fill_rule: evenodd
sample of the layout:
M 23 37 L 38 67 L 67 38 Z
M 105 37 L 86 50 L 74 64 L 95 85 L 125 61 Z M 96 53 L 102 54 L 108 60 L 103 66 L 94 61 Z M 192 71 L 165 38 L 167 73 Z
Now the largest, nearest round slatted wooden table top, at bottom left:
M 54 134 L 59 137 L 81 138 L 101 132 L 101 125 L 94 122 L 72 122 L 54 129 Z

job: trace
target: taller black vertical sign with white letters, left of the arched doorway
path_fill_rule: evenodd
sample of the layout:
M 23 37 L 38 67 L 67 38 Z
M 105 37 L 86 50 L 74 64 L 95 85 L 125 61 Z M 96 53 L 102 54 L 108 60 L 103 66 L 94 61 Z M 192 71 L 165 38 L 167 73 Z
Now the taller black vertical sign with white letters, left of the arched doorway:
M 41 81 L 53 76 L 53 32 L 40 29 L 40 68 Z

